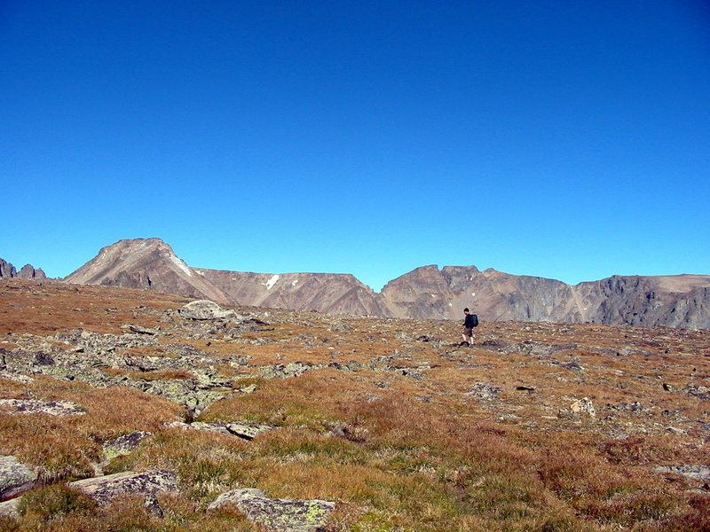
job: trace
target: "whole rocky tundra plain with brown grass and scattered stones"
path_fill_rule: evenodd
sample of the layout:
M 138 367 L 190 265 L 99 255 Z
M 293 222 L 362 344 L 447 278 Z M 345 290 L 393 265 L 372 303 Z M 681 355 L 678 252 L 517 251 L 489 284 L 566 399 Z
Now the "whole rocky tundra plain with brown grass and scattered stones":
M 0 530 L 710 529 L 710 332 L 0 281 Z

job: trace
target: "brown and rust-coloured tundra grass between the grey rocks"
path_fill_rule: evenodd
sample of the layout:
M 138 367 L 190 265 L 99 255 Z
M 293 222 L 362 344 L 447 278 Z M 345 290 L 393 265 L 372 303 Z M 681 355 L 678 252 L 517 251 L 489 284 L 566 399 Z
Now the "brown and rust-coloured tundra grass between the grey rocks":
M 160 347 L 122 354 L 174 356 L 167 344 L 176 342 L 200 348 L 234 379 L 232 395 L 213 403 L 200 420 L 277 427 L 246 442 L 167 428 L 165 422 L 182 419 L 185 411 L 133 389 L 0 379 L 3 397 L 74 401 L 87 412 L 63 419 L 0 413 L 0 452 L 39 467 L 51 488 L 33 492 L 36 504 L 50 510 L 0 520 L 0 531 L 256 530 L 239 512 L 204 510 L 219 493 L 244 487 L 270 497 L 337 501 L 330 532 L 710 529 L 708 497 L 689 491 L 696 483 L 653 471 L 710 462 L 706 402 L 686 391 L 710 386 L 708 332 L 589 324 L 478 327 L 477 342 L 513 346 L 501 353 L 455 348 L 458 323 L 269 310 L 263 328 L 272 330 L 196 340 L 160 312 L 184 301 L 103 287 L 0 283 L 0 333 L 13 332 L 0 347 L 17 348 L 27 341 L 18 338 L 25 332 L 170 328 L 172 336 L 161 338 Z M 343 324 L 350 330 L 334 330 Z M 422 334 L 444 340 L 415 340 Z M 536 343 L 565 347 L 527 353 Z M 618 356 L 624 348 L 637 351 Z M 228 364 L 232 356 L 249 356 L 250 365 Z M 327 368 L 293 379 L 256 377 L 265 364 L 348 361 L 376 362 L 376 371 Z M 572 361 L 583 371 L 564 367 Z M 424 368 L 422 379 L 402 374 L 415 368 Z M 146 380 L 192 376 L 187 369 L 123 373 Z M 491 399 L 467 395 L 477 382 L 501 391 Z M 241 393 L 250 385 L 256 391 Z M 521 385 L 534 389 L 518 390 Z M 596 418 L 564 413 L 581 397 L 592 400 Z M 636 402 L 642 408 L 629 406 Z M 667 426 L 687 434 L 670 433 Z M 91 474 L 91 462 L 102 458 L 101 443 L 137 430 L 154 436 L 115 458 L 106 473 L 175 471 L 181 491 L 161 498 L 163 520 L 135 497 L 97 510 L 57 487 Z

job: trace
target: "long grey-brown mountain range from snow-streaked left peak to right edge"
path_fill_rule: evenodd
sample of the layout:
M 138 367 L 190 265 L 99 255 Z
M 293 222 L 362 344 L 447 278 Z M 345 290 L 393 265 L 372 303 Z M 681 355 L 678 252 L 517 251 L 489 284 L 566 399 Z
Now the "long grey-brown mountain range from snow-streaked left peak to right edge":
M 710 328 L 710 276 L 613 276 L 571 286 L 475 266 L 423 266 L 381 293 L 349 274 L 252 273 L 185 264 L 161 239 L 121 240 L 64 279 L 240 305 L 377 317 L 594 322 Z

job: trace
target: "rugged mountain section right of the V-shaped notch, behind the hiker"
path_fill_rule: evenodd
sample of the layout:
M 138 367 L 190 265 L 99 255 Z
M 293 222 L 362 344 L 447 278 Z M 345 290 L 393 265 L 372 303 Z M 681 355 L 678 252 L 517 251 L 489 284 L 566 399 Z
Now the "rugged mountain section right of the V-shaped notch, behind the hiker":
M 459 317 L 465 306 L 486 320 L 710 327 L 710 276 L 614 276 L 576 286 L 475 266 L 425 266 L 384 286 L 398 317 Z

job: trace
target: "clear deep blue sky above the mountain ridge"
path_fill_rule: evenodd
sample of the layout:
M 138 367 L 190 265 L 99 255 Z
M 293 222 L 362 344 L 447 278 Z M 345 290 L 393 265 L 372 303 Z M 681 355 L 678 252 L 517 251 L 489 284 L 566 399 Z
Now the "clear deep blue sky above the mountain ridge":
M 703 1 L 0 0 L 0 257 L 710 274 Z

